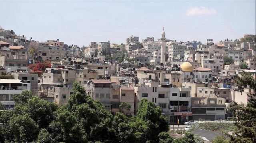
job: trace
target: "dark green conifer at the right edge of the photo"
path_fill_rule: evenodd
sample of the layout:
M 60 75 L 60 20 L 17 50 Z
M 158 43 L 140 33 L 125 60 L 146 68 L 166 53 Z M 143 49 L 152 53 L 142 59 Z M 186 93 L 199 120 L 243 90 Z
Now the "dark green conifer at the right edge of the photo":
M 236 80 L 238 90 L 244 92 L 244 88 L 252 88 L 253 93 L 247 94 L 248 102 L 246 106 L 238 106 L 238 121 L 234 123 L 236 128 L 230 136 L 230 143 L 255 143 L 256 142 L 256 81 L 245 74 Z

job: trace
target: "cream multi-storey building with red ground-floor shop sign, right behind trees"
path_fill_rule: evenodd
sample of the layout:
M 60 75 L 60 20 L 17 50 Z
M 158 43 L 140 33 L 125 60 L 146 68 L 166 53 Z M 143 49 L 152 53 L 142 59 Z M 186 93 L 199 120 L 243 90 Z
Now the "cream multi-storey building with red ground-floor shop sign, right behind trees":
M 139 82 L 134 86 L 135 112 L 138 111 L 138 105 L 142 98 L 152 101 L 156 106 L 162 108 L 162 114 L 168 117 L 169 122 L 176 123 L 178 119 L 181 122 L 186 120 L 182 118 L 182 112 L 190 110 L 190 88 L 174 88 L 170 84 L 152 82 Z M 191 113 L 189 113 L 191 115 Z

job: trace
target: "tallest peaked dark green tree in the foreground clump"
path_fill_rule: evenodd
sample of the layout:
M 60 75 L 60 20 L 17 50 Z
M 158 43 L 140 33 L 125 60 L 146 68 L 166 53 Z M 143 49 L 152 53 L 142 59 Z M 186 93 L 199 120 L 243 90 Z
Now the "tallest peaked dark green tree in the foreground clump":
M 62 106 L 58 111 L 57 121 L 51 126 L 52 131 L 60 129 L 65 142 L 88 142 L 111 140 L 112 115 L 106 112 L 98 100 L 85 93 L 84 88 L 74 82 L 73 94 L 70 96 L 68 103 Z M 52 128 L 54 127 L 54 128 Z M 53 136 L 58 140 L 60 134 Z

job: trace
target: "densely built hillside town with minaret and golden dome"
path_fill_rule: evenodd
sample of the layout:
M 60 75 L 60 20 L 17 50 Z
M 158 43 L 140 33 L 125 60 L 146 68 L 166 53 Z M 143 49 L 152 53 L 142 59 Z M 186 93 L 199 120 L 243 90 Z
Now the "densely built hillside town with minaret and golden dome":
M 236 79 L 256 74 L 255 35 L 237 39 L 176 41 L 164 28 L 159 37 L 127 35 L 126 43 L 92 41 L 79 47 L 61 39 L 45 42 L 0 27 L 0 102 L 14 109 L 24 89 L 59 106 L 77 82 L 113 116 L 122 102 L 134 116 L 146 98 L 162 108 L 170 124 L 234 118 L 231 102 L 247 104 Z M 150 36 L 150 35 L 148 35 Z M 169 38 L 170 37 L 170 38 Z M 169 39 L 168 39 L 169 38 Z

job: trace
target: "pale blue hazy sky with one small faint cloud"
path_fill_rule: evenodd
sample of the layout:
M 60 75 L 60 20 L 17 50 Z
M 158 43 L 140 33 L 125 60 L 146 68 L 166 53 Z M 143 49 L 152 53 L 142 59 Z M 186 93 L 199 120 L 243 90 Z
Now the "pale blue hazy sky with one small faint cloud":
M 3 1 L 0 26 L 36 41 L 60 39 L 126 43 L 131 35 L 204 43 L 256 31 L 255 0 L 249 1 Z

